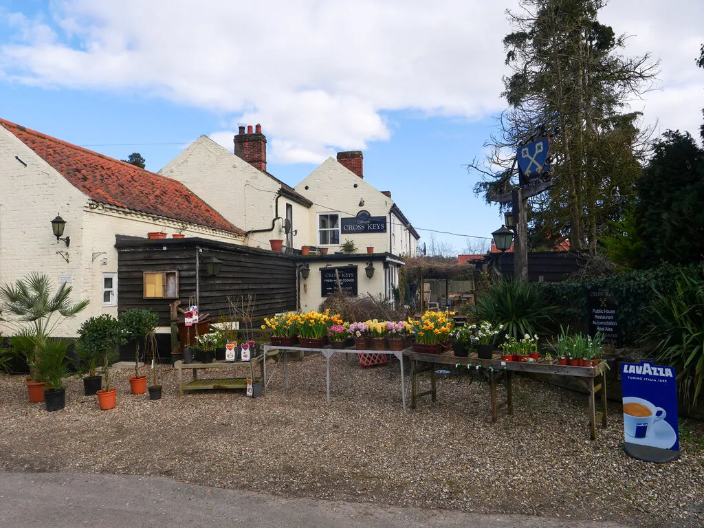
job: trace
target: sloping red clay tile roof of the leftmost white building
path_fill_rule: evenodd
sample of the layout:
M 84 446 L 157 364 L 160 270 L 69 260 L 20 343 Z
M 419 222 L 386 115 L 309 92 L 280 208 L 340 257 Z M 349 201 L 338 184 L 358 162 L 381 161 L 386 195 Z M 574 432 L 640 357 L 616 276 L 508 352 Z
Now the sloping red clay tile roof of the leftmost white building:
M 94 201 L 214 230 L 244 234 L 177 180 L 4 119 L 0 119 L 0 125 Z

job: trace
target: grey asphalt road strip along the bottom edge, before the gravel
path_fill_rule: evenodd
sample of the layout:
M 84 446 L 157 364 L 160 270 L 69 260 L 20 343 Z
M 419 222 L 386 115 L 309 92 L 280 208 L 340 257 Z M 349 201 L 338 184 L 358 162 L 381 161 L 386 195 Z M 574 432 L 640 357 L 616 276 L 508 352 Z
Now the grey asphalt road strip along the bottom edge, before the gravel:
M 526 515 L 283 498 L 163 477 L 0 473 L 0 527 L 625 528 Z

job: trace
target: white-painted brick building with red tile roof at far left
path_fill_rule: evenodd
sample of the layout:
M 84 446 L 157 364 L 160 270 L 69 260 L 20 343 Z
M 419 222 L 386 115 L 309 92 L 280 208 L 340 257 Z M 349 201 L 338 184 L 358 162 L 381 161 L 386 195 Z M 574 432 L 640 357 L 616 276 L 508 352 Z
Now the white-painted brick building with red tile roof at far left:
M 182 232 L 244 241 L 243 231 L 182 183 L 6 120 L 0 120 L 0 171 L 0 282 L 31 271 L 46 273 L 56 287 L 70 282 L 74 301 L 90 304 L 58 329 L 63 337 L 75 336 L 92 315 L 117 315 L 115 235 Z M 68 241 L 54 237 L 56 215 L 65 220 Z

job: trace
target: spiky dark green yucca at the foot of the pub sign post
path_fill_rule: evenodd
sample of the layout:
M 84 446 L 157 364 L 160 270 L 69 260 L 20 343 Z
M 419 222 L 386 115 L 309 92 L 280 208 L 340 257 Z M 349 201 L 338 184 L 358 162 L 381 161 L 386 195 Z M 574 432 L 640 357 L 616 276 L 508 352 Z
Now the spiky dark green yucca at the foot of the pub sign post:
M 549 333 L 557 311 L 536 284 L 502 280 L 479 298 L 475 313 L 480 320 L 503 325 L 505 336 L 520 339 L 525 334 Z

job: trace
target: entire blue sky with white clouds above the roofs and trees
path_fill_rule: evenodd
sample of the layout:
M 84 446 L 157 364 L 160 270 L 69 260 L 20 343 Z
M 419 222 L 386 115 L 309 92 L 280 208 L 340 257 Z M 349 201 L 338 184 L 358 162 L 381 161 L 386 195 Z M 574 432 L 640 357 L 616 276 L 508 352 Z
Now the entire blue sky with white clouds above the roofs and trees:
M 336 151 L 425 241 L 490 237 L 498 209 L 464 165 L 484 156 L 500 99 L 504 4 L 480 0 L 0 1 L 0 117 L 159 170 L 201 134 L 232 148 L 263 125 L 270 172 L 294 185 Z M 660 59 L 643 124 L 696 132 L 704 4 L 612 0 L 601 20 L 628 54 Z M 467 239 L 435 235 L 465 252 Z

